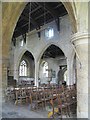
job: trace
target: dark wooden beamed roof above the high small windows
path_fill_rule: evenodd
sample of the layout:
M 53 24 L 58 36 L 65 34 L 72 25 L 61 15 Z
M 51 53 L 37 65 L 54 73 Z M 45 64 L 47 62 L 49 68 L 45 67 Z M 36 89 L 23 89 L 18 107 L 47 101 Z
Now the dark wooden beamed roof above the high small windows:
M 61 2 L 29 2 L 17 22 L 13 38 L 26 34 L 28 30 L 38 30 L 53 20 L 55 20 L 59 30 L 59 17 L 65 14 L 67 11 Z

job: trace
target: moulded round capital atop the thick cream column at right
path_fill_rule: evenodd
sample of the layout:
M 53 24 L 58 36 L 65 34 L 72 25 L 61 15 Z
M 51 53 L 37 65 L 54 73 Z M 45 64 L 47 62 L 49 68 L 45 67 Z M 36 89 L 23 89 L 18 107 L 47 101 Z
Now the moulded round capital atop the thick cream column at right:
M 71 37 L 71 42 L 77 45 L 88 44 L 88 39 L 90 39 L 90 33 L 75 33 Z

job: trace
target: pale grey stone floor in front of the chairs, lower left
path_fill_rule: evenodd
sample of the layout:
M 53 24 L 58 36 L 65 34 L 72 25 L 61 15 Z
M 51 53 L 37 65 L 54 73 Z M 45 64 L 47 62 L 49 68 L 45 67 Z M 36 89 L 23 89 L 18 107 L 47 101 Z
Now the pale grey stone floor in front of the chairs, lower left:
M 3 103 L 2 105 L 2 118 L 47 118 L 48 111 L 39 109 L 32 111 L 30 105 L 15 105 L 13 103 Z M 65 118 L 65 116 L 63 116 Z M 76 118 L 76 115 L 72 117 Z

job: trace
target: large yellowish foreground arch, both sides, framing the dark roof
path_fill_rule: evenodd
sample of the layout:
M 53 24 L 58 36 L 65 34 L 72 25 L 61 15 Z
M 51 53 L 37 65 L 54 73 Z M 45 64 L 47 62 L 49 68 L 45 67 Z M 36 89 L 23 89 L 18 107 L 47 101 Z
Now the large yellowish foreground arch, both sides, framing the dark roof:
M 72 25 L 73 31 L 76 32 L 77 25 L 76 25 L 75 12 L 74 12 L 75 5 L 74 5 L 74 3 L 71 4 L 71 2 L 63 2 L 62 0 L 61 0 L 61 2 L 65 6 L 65 8 L 70 16 L 71 23 L 73 23 L 73 25 Z M 15 26 L 19 19 L 19 16 L 21 15 L 21 12 L 23 11 L 26 4 L 27 4 L 26 2 L 19 2 L 18 4 L 17 4 L 17 2 L 3 3 L 2 54 L 4 57 L 8 57 L 9 47 L 10 47 L 9 45 L 10 45 L 10 41 L 11 41 L 11 38 L 13 35 L 13 31 L 15 29 Z M 17 12 L 14 12 L 14 11 L 17 11 Z M 8 14 L 7 14 L 7 12 L 8 12 Z M 13 13 L 15 13 L 15 14 L 13 14 Z M 5 45 L 5 43 L 7 43 L 7 45 Z M 5 49 L 7 49 L 7 50 L 5 50 Z

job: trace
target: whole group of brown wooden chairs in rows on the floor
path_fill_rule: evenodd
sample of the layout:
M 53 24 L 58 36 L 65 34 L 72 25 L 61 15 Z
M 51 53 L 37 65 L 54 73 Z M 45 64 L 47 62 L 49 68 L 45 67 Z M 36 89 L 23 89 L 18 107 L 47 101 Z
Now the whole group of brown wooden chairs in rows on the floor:
M 76 106 L 76 87 L 73 86 L 48 86 L 48 87 L 30 87 L 14 89 L 15 104 L 30 103 L 31 110 L 51 107 L 52 114 L 48 117 L 54 117 L 63 112 L 70 116 L 72 107 Z

